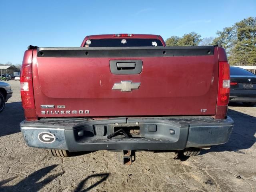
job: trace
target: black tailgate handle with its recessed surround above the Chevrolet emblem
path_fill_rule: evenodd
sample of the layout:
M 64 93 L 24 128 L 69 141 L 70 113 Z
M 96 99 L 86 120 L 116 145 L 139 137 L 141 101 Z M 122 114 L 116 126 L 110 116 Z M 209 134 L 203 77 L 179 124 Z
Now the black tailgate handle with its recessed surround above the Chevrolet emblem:
M 112 74 L 140 74 L 142 60 L 110 60 L 109 67 Z

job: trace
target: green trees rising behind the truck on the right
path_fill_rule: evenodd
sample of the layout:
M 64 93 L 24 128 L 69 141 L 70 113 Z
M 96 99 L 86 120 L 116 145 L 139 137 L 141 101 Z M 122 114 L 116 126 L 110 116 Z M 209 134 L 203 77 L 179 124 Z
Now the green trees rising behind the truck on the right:
M 230 27 L 217 31 L 217 37 L 201 38 L 191 32 L 182 37 L 166 39 L 167 46 L 216 45 L 226 49 L 230 65 L 256 65 L 256 17 L 236 22 Z

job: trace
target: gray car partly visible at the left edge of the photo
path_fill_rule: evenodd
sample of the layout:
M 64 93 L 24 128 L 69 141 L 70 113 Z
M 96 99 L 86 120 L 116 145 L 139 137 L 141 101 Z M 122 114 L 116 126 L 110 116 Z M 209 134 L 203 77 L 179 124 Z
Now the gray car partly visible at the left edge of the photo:
M 0 82 L 0 112 L 4 110 L 5 103 L 12 96 L 10 84 Z

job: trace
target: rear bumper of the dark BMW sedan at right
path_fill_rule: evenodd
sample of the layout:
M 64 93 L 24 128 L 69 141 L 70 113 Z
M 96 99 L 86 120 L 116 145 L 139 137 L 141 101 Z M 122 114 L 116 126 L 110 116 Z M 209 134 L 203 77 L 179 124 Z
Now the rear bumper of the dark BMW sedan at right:
M 230 90 L 230 101 L 234 102 L 256 102 L 256 90 Z

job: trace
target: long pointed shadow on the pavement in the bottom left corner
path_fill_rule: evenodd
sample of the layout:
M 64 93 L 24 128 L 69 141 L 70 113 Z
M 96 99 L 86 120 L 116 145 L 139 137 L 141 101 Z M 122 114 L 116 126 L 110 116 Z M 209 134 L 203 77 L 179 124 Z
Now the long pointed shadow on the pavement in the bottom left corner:
M 15 185 L 12 186 L 3 186 L 4 184 L 8 184 L 8 182 L 15 180 L 18 178 L 18 176 L 8 178 L 6 180 L 0 181 L 0 191 L 5 192 L 13 192 L 13 191 L 39 191 L 42 189 L 45 185 L 50 183 L 52 180 L 63 174 L 57 173 L 48 176 L 44 180 L 38 182 L 41 180 L 46 174 L 48 174 L 51 170 L 53 170 L 57 165 L 48 166 L 45 168 L 42 168 L 38 171 L 35 171 L 34 173 L 30 174 L 28 177 L 24 178 L 20 182 L 18 182 Z

